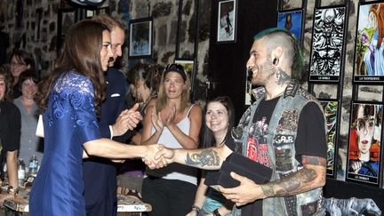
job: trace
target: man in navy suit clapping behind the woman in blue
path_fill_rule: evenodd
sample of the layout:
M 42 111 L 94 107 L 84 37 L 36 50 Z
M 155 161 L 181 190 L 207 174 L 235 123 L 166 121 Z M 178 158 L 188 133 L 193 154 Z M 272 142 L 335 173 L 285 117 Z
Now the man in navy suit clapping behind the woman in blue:
M 122 56 L 124 44 L 124 25 L 106 14 L 95 17 L 111 31 L 111 46 L 114 54 L 109 60 L 106 72 L 107 95 L 100 109 L 100 132 L 102 137 L 124 142 L 131 135 L 129 130 L 140 122 L 142 116 L 138 104 L 125 109 L 125 94 L 128 84 L 122 72 L 112 68 L 118 57 Z M 84 160 L 84 197 L 87 216 L 116 215 L 116 164 L 100 157 Z

